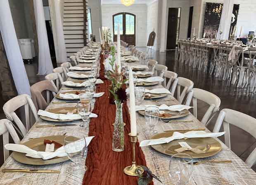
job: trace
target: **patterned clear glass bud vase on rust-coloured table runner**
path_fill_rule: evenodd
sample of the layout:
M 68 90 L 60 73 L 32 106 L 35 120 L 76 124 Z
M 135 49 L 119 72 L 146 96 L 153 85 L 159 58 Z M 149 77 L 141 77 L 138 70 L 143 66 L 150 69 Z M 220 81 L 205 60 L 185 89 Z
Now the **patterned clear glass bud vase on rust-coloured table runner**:
M 123 131 L 123 104 L 115 101 L 116 104 L 116 118 L 114 123 L 112 150 L 115 152 L 122 152 L 124 150 L 124 131 Z

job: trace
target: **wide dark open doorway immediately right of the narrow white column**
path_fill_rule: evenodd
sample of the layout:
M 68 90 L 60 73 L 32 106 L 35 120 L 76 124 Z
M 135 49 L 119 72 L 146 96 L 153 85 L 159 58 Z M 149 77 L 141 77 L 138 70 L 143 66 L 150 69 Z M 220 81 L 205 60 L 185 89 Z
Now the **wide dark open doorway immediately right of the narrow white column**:
M 181 8 L 169 8 L 166 50 L 175 49 L 180 33 Z

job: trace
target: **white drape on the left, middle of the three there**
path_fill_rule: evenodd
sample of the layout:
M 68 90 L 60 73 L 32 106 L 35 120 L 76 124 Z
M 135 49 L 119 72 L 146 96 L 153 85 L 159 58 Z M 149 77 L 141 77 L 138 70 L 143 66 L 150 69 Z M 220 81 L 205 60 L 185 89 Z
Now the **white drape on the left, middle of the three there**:
M 47 31 L 45 26 L 45 14 L 43 11 L 43 1 L 33 0 L 35 18 L 36 18 L 36 30 L 38 37 L 38 75 L 44 75 L 52 73 L 52 60 L 50 55 L 50 49 L 48 44 Z

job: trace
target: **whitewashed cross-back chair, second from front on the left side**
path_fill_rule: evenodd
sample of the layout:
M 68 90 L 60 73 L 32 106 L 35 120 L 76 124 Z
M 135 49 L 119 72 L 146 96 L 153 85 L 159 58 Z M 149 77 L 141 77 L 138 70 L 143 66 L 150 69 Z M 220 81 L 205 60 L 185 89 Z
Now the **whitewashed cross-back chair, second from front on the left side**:
M 26 118 L 26 128 L 24 124 L 21 122 L 17 114 L 14 112 L 20 107 L 24 106 L 25 108 L 25 118 Z M 33 113 L 33 116 L 36 120 L 39 119 L 36 111 L 36 107 L 33 104 L 33 101 L 30 96 L 23 94 L 16 96 L 12 99 L 10 99 L 8 102 L 6 102 L 3 106 L 3 111 L 5 113 L 5 116 L 10 121 L 14 121 L 16 125 L 19 127 L 19 130 L 23 136 L 26 136 L 28 130 L 30 129 L 30 116 L 29 116 L 29 107 Z

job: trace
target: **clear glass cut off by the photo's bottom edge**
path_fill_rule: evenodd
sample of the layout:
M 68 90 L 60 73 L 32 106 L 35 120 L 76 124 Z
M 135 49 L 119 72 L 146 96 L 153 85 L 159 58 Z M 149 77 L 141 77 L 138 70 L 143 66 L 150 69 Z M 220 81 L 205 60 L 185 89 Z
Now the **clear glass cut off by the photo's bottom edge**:
M 174 185 L 188 185 L 192 177 L 192 172 L 193 159 L 190 155 L 179 153 L 171 157 L 169 176 Z

